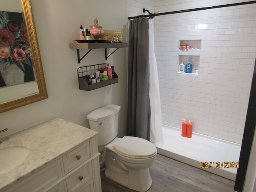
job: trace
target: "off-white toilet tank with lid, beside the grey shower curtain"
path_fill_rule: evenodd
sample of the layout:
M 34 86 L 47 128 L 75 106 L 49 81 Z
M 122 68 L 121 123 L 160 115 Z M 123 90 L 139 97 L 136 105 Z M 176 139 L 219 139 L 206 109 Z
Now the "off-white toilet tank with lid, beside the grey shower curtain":
M 98 146 L 104 146 L 116 138 L 120 108 L 118 105 L 106 105 L 87 115 L 90 129 L 99 132 Z

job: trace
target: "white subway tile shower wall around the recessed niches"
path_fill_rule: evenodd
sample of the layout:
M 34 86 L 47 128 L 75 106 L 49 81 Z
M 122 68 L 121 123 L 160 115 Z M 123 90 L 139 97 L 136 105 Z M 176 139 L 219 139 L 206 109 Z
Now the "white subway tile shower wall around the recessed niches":
M 127 0 L 129 16 L 144 7 L 160 13 L 246 0 L 155 0 L 152 11 L 153 2 Z M 182 119 L 190 119 L 194 132 L 241 144 L 256 57 L 256 4 L 157 16 L 154 36 L 162 123 L 181 128 Z M 201 49 L 182 52 L 180 40 L 201 40 Z M 177 72 L 182 54 L 200 56 L 198 75 Z

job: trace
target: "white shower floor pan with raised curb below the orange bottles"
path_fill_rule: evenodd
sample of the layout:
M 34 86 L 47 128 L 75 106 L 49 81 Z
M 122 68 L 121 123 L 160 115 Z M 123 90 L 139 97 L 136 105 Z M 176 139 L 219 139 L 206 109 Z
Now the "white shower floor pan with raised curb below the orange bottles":
M 192 138 L 182 137 L 181 129 L 166 125 L 162 129 L 164 146 L 157 148 L 159 154 L 230 180 L 236 179 L 237 168 L 231 167 L 237 167 L 240 144 L 197 133 L 192 133 Z

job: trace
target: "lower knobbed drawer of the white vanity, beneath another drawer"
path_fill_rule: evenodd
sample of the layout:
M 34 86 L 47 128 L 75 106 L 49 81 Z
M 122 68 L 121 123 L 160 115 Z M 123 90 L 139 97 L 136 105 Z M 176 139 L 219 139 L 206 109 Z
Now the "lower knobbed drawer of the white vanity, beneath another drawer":
M 68 191 L 76 192 L 90 180 L 92 180 L 92 162 L 88 162 L 66 178 Z

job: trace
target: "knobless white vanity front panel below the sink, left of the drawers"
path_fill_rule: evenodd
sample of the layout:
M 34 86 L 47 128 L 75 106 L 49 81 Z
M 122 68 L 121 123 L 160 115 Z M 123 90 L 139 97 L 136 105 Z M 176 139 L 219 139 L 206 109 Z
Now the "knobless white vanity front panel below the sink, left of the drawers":
M 5 192 L 43 192 L 61 178 L 60 160 L 57 160 L 28 178 L 12 186 Z

